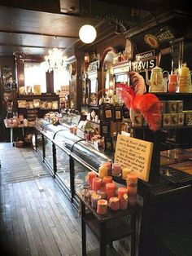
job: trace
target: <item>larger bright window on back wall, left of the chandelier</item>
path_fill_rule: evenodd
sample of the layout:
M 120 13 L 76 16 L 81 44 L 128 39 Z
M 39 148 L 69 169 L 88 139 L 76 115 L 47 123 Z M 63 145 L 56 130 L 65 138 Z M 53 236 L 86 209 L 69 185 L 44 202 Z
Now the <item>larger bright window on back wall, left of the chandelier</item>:
M 46 92 L 46 72 L 41 68 L 40 63 L 24 62 L 24 87 L 27 91 L 28 88 L 32 88 L 34 92 L 34 86 L 41 86 L 41 93 Z

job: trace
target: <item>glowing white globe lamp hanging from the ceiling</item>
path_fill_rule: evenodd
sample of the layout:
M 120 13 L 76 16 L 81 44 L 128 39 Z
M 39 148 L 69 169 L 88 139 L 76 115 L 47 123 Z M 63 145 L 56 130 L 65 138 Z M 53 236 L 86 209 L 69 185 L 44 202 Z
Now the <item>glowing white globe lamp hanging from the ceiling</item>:
M 92 25 L 85 24 L 81 27 L 79 31 L 79 37 L 82 42 L 90 43 L 94 42 L 94 39 L 97 36 L 97 31 Z

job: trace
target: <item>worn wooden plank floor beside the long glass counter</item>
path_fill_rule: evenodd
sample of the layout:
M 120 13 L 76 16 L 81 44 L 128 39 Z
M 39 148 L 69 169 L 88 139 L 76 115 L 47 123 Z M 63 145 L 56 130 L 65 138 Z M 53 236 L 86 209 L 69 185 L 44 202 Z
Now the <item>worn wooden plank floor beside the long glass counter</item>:
M 81 218 L 37 153 L 0 143 L 0 160 L 0 255 L 82 255 Z M 97 248 L 88 230 L 87 250 Z

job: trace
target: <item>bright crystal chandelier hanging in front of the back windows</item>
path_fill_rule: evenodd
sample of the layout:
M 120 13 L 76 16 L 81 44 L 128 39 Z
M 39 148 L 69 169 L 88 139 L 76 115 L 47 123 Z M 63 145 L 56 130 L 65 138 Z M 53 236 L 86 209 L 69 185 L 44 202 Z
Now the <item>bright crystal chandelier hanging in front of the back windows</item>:
M 45 56 L 44 67 L 46 72 L 51 72 L 54 70 L 61 70 L 66 68 L 66 57 L 63 57 L 63 52 L 58 48 L 53 48 L 49 51 L 49 55 Z

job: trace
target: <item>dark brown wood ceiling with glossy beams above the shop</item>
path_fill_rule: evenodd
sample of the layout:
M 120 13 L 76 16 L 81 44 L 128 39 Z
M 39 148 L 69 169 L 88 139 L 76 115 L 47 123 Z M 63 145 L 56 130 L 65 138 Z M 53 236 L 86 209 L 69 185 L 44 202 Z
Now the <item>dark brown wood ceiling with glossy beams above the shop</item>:
M 133 0 L 100 2 L 109 4 L 109 15 L 110 2 L 122 8 L 139 7 L 138 2 Z M 169 1 L 144 0 L 140 7 L 149 10 L 155 5 L 160 7 L 161 4 L 162 7 L 165 2 Z M 71 55 L 76 43 L 78 46 L 81 44 L 79 29 L 88 19 L 80 15 L 80 0 L 9 0 L 1 1 L 0 4 L 0 55 L 13 55 L 15 51 L 22 55 L 46 55 L 48 50 L 55 46 L 62 49 L 66 55 Z M 93 24 L 98 32 L 95 42 L 116 35 L 113 23 L 93 18 L 89 18 L 89 23 Z

